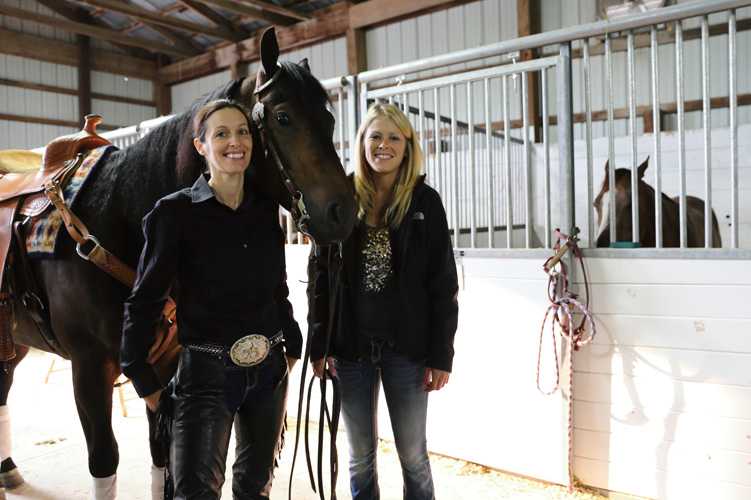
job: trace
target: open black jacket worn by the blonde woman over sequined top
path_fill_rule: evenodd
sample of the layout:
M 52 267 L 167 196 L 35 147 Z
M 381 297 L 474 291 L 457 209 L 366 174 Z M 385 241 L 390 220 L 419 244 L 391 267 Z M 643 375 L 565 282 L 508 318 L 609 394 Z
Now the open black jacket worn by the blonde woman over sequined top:
M 331 334 L 329 355 L 356 360 L 367 352 L 367 340 L 358 335 L 354 300 L 360 286 L 360 242 L 363 223 L 355 226 L 342 249 L 341 285 Z M 439 194 L 420 178 L 409 210 L 397 230 L 390 230 L 398 309 L 387 311 L 398 318 L 394 332 L 396 349 L 430 368 L 451 371 L 454 334 L 459 314 L 454 251 L 446 212 Z M 336 261 L 331 247 L 311 253 L 308 262 L 308 328 L 312 336 L 311 359 L 326 351 L 329 322 L 328 269 Z

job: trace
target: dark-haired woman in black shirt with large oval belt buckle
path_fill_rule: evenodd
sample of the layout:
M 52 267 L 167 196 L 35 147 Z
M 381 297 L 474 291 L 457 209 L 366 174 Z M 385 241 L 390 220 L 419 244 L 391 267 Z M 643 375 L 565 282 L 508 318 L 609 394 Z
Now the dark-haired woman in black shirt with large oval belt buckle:
M 287 300 L 284 238 L 277 204 L 248 182 L 246 171 L 263 158 L 246 110 L 212 101 L 196 114 L 193 129 L 208 172 L 144 218 L 121 364 L 152 411 L 165 402 L 174 406 L 174 498 L 220 498 L 233 423 L 233 496 L 268 498 L 288 368 L 302 344 Z M 183 349 L 174 389 L 162 396 L 146 358 L 171 289 Z

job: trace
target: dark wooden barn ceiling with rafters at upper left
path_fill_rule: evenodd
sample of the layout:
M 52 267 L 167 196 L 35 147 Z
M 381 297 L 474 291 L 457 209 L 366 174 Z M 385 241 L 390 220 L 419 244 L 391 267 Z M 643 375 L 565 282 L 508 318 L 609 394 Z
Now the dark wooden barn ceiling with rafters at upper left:
M 248 39 L 269 25 L 292 26 L 338 0 L 37 0 L 60 27 L 106 40 L 139 57 L 175 62 Z M 3 14 L 54 25 L 12 7 Z M 65 25 L 64 22 L 77 23 Z M 90 29 L 86 30 L 88 25 Z

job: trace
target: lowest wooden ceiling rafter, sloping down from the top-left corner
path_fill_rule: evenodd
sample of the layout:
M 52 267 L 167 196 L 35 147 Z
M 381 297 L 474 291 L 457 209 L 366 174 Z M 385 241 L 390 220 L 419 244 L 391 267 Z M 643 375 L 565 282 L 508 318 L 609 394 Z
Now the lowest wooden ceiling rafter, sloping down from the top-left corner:
M 107 40 L 108 42 L 116 42 L 123 45 L 140 47 L 152 52 L 161 52 L 163 54 L 170 54 L 177 57 L 191 56 L 190 52 L 164 43 L 154 42 L 152 40 L 146 40 L 143 38 L 126 36 L 112 29 L 99 28 L 96 26 L 91 26 L 87 23 L 59 19 L 53 16 L 38 14 L 36 12 L 30 12 L 24 9 L 9 7 L 7 5 L 0 5 L 0 14 L 15 17 L 18 19 L 24 19 L 26 21 L 34 21 L 37 23 L 46 24 L 48 26 L 54 26 L 66 31 L 78 33 L 79 35 L 86 35 L 92 38 Z

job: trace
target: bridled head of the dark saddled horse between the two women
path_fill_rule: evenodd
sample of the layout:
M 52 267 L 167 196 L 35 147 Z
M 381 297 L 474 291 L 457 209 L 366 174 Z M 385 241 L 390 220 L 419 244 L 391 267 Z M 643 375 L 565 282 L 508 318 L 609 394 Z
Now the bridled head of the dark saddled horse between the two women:
M 344 240 L 355 222 L 354 188 L 333 142 L 328 94 L 307 60 L 279 63 L 274 28 L 261 38 L 255 82 L 243 81 L 243 101 L 254 97 L 252 119 L 267 151 L 261 185 L 292 213 L 298 229 L 319 244 Z

